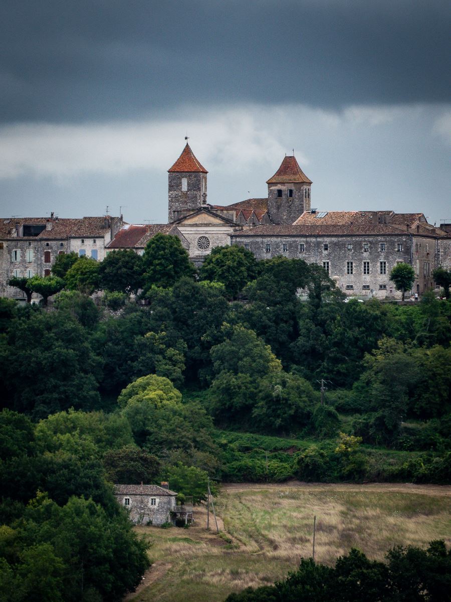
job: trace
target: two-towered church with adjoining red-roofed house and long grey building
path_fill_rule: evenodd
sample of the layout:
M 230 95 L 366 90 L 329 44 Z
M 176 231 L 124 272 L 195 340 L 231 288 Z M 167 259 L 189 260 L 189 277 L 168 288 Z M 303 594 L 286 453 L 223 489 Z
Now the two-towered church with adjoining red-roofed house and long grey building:
M 200 265 L 216 246 L 238 244 L 258 259 L 283 255 L 322 265 L 346 294 L 400 297 L 389 275 L 397 262 L 413 265 L 413 293 L 434 286 L 432 271 L 451 267 L 451 224 L 436 228 L 422 213 L 319 211 L 311 180 L 294 156 L 266 181 L 268 197 L 231 205 L 207 202 L 207 170 L 186 143 L 168 170 L 168 223 L 124 225 L 106 247 L 144 252 L 158 232 L 180 238 Z

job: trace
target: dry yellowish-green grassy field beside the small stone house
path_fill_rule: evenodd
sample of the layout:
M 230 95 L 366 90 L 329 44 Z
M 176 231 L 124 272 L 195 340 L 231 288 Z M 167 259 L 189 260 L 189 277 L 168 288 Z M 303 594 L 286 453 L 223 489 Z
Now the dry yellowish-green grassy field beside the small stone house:
M 268 585 L 311 556 L 314 515 L 319 562 L 333 563 L 351 547 L 375 559 L 397 544 L 451 544 L 445 486 L 240 483 L 223 486 L 216 506 L 219 536 L 206 531 L 203 507 L 188 530 L 137 527 L 150 542 L 153 566 L 127 600 L 213 602 Z

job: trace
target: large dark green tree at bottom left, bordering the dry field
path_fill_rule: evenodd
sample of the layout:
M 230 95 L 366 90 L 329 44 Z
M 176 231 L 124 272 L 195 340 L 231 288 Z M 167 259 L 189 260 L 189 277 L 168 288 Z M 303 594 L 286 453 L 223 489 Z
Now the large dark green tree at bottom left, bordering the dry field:
M 48 542 L 64 563 L 63 599 L 119 601 L 149 566 L 146 544 L 123 510 L 114 515 L 93 500 L 72 497 L 60 507 L 40 495 L 29 503 L 25 545 Z

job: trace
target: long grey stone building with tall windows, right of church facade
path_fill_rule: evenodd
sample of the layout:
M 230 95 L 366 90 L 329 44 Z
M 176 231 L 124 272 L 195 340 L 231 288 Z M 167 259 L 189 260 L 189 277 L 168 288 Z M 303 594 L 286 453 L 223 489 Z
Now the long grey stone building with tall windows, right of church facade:
M 346 294 L 399 297 L 389 275 L 399 262 L 413 265 L 413 291 L 433 287 L 435 244 L 440 229 L 423 214 L 393 211 L 304 212 L 293 225 L 269 225 L 235 232 L 231 244 L 257 259 L 275 255 L 322 265 Z M 444 233 L 443 233 L 444 234 Z

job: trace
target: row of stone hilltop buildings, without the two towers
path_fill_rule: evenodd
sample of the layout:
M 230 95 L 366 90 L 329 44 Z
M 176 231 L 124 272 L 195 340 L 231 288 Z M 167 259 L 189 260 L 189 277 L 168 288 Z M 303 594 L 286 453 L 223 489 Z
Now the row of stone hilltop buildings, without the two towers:
M 361 297 L 394 296 L 388 276 L 399 261 L 413 265 L 416 271 L 413 292 L 420 294 L 434 287 L 435 267 L 443 265 L 451 269 L 451 225 L 434 228 L 422 214 L 385 212 L 382 214 L 385 223 L 379 223 L 379 212 L 375 223 L 376 212 L 322 212 L 324 217 L 318 217 L 318 213 L 305 212 L 291 226 L 264 223 L 236 226 L 235 222 L 233 228 L 225 229 L 224 223 L 215 223 L 218 214 L 210 206 L 204 207 L 198 216 L 200 223 L 191 220 L 179 224 L 128 225 L 121 217 L 111 216 L 2 219 L 0 294 L 22 299 L 21 291 L 8 287 L 8 280 L 13 276 L 49 275 L 60 253 L 75 251 L 97 261 L 116 249 L 133 249 L 142 254 L 150 238 L 159 232 L 177 235 L 197 264 L 215 246 L 215 240 L 219 244 L 244 246 L 258 259 L 283 255 L 315 262 L 327 270 L 345 293 Z M 210 217 L 210 223 L 206 223 L 206 216 Z M 202 244 L 198 244 L 198 239 Z

